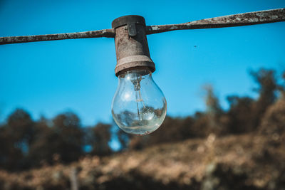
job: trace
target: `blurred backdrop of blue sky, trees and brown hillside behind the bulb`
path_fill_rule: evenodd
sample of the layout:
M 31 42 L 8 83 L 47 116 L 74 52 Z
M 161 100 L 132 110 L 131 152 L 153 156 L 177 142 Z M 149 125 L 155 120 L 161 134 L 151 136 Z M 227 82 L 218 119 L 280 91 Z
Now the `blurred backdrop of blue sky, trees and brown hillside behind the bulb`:
M 0 36 L 147 25 L 285 1 L 0 0 Z M 285 23 L 147 36 L 167 117 L 126 134 L 113 38 L 0 46 L 0 189 L 285 189 Z

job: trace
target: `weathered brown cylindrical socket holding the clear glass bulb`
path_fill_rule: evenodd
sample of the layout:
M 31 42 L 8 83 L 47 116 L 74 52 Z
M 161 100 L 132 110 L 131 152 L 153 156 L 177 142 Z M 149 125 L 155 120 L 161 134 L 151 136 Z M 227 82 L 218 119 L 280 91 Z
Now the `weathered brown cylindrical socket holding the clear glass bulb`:
M 145 19 L 138 15 L 121 16 L 112 22 L 112 28 L 115 28 L 116 76 L 124 70 L 145 67 L 152 73 L 155 71 L 155 63 L 150 58 L 145 27 Z

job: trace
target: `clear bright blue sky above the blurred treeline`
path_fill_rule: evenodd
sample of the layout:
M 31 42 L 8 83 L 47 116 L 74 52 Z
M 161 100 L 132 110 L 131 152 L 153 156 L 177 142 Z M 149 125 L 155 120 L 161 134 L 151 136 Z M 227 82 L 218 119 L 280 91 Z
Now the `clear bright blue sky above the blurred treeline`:
M 0 0 L 0 36 L 93 31 L 128 14 L 147 25 L 284 8 L 285 1 L 11 1 Z M 147 36 L 165 93 L 167 113 L 204 110 L 202 85 L 212 83 L 227 108 L 227 95 L 251 95 L 249 70 L 285 70 L 285 22 L 234 28 L 172 31 Z M 34 119 L 72 110 L 83 125 L 110 122 L 118 85 L 113 38 L 0 46 L 0 121 L 16 107 Z

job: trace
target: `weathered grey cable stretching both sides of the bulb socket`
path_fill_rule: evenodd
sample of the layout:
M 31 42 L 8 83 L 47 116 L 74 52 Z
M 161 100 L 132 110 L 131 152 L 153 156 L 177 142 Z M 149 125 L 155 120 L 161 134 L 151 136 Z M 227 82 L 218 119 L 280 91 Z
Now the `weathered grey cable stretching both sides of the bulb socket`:
M 211 19 L 202 19 L 199 21 L 191 21 L 187 23 L 179 24 L 167 24 L 167 25 L 154 25 L 147 26 L 146 33 L 162 33 L 166 31 L 176 30 L 190 30 L 190 29 L 202 29 L 202 28 L 223 28 L 232 26 L 247 26 L 260 23 L 274 23 L 285 21 L 285 9 L 272 9 L 266 11 L 256 11 L 244 14 L 233 14 L 229 16 L 219 16 Z M 56 33 L 47 35 L 36 36 L 12 36 L 12 37 L 0 37 L 0 45 L 9 43 L 26 43 L 33 41 L 56 41 L 65 39 L 76 38 L 114 38 L 114 29 L 103 29 L 100 31 L 86 31 L 76 33 Z

